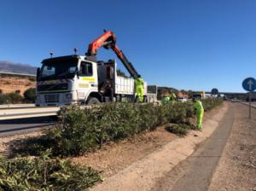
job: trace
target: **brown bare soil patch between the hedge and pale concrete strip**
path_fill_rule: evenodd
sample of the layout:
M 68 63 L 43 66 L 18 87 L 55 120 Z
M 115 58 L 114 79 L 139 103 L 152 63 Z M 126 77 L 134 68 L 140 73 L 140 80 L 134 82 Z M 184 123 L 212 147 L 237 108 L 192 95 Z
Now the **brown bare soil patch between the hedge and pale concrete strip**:
M 124 169 L 128 165 L 145 157 L 177 139 L 172 133 L 165 130 L 164 126 L 157 130 L 133 136 L 131 139 L 120 142 L 112 142 L 103 146 L 95 153 L 73 158 L 76 164 L 91 165 L 98 171 L 103 171 L 103 177 L 111 177 L 113 174 Z

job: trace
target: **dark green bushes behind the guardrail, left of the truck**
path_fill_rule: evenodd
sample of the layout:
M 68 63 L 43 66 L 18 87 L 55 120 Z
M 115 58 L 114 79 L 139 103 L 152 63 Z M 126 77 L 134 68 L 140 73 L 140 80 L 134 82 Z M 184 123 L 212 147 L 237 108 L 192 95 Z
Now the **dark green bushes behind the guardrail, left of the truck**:
M 15 104 L 22 102 L 35 102 L 36 90 L 34 88 L 27 89 L 23 96 L 20 95 L 20 90 L 3 94 L 0 92 L 0 104 Z

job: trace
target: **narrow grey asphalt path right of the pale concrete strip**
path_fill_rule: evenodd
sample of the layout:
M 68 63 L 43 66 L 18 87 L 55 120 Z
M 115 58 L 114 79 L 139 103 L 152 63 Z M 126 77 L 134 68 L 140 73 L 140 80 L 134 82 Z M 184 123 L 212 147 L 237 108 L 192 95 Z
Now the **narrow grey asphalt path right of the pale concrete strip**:
M 154 191 L 204 191 L 208 190 L 212 173 L 218 165 L 224 146 L 235 120 L 234 106 L 206 142 L 202 142 L 189 159 L 177 165 L 156 184 Z

